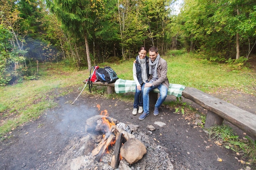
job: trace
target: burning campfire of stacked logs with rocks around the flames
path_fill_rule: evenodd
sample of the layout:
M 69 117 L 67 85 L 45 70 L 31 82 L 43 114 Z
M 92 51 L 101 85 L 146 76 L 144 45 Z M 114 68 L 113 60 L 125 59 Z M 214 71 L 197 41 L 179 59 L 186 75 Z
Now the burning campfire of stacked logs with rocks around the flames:
M 97 105 L 100 110 L 100 106 Z M 130 133 L 130 128 L 110 118 L 107 110 L 86 121 L 86 131 L 102 132 L 102 139 L 91 152 L 95 161 L 102 161 L 106 154 L 112 155 L 110 166 L 117 168 L 121 159 L 129 164 L 139 161 L 146 154 L 146 146 Z M 120 127 L 121 126 L 121 127 Z

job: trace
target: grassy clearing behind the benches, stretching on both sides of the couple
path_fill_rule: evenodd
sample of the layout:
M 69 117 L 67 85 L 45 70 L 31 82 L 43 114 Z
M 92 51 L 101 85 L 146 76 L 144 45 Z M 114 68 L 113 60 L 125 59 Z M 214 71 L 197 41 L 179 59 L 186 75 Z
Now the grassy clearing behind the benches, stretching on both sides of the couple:
M 170 83 L 195 87 L 206 93 L 214 93 L 219 89 L 233 89 L 256 95 L 256 73 L 248 68 L 236 69 L 227 64 L 207 62 L 182 51 L 171 51 L 170 55 L 162 57 L 168 62 Z M 126 60 L 99 66 L 111 66 L 119 78 L 133 79 L 132 62 L 133 60 Z M 37 119 L 45 109 L 56 106 L 54 97 L 72 92 L 70 87 L 82 89 L 82 81 L 89 77 L 90 71 L 77 71 L 65 62 L 59 62 L 40 64 L 38 74 L 40 78 L 37 80 L 0 87 L 2 139 L 17 126 Z M 83 93 L 89 93 L 88 88 L 85 88 Z

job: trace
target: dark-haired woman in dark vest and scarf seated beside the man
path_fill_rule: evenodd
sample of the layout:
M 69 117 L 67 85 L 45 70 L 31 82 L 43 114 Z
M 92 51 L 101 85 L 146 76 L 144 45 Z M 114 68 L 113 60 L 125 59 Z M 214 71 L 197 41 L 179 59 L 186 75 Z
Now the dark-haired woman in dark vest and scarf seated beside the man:
M 139 49 L 139 55 L 136 57 L 136 61 L 133 63 L 133 79 L 136 83 L 136 92 L 134 96 L 132 115 L 137 115 L 143 112 L 143 88 L 149 77 L 148 56 L 146 56 L 147 50 L 143 46 Z

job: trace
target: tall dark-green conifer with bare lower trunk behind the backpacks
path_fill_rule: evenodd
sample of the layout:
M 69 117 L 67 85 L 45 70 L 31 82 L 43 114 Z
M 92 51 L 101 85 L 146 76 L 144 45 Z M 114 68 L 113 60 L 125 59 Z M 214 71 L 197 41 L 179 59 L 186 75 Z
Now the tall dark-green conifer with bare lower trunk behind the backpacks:
M 47 0 L 46 2 L 51 11 L 57 16 L 66 29 L 70 31 L 70 33 L 72 33 L 76 38 L 81 36 L 84 38 L 88 69 L 90 69 L 91 60 L 88 36 L 90 36 L 89 30 L 92 28 L 93 23 L 93 18 L 90 18 L 90 16 L 95 11 L 94 8 L 98 1 Z M 101 3 L 101 1 L 99 3 Z M 101 5 L 103 6 L 103 4 Z

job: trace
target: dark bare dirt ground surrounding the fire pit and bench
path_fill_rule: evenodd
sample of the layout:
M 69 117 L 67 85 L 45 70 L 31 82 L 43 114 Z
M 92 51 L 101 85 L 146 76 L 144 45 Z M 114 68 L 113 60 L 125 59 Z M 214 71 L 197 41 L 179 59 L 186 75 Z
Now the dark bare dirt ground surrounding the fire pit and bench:
M 110 117 L 125 124 L 138 125 L 139 131 L 146 134 L 148 134 L 147 125 L 154 125 L 155 121 L 164 122 L 166 126 L 154 125 L 156 130 L 148 135 L 166 150 L 176 170 L 245 170 L 246 168 L 235 157 L 244 160 L 245 158 L 214 144 L 214 140 L 210 140 L 202 128 L 193 124 L 193 120 L 174 113 L 173 109 L 162 106 L 158 116 L 151 113 L 146 119 L 139 120 L 139 114 L 132 115 L 132 102 L 126 103 L 119 99 L 104 99 L 100 96 L 82 94 L 74 105 L 71 105 L 80 93 L 79 87 L 73 88 L 72 94 L 56 98 L 58 107 L 46 111 L 37 120 L 18 127 L 9 134 L 9 139 L 0 142 L 1 170 L 61 169 L 58 160 L 67 152 L 67 146 L 72 147 L 77 139 L 87 134 L 86 119 L 99 115 L 101 110 L 105 109 L 108 110 Z M 212 95 L 256 114 L 256 97 L 236 91 L 229 91 L 229 95 L 222 94 Z M 173 99 L 168 96 L 166 100 Z M 205 112 L 193 102 L 189 100 L 185 102 Z M 100 104 L 101 110 L 98 110 L 97 104 Z M 243 132 L 236 127 L 234 130 L 243 135 Z M 223 161 L 217 161 L 218 157 Z M 253 166 L 250 168 L 255 169 Z

